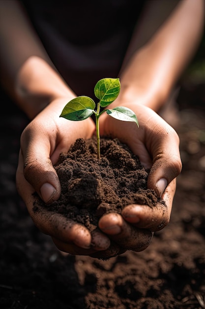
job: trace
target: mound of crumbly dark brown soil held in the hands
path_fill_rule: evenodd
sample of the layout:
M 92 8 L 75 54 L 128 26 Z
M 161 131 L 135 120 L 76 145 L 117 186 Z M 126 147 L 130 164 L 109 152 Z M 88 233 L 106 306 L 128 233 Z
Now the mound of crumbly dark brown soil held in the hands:
M 83 224 L 91 232 L 97 230 L 102 215 L 121 213 L 126 205 L 139 203 L 154 207 L 161 203 L 166 207 L 154 190 L 147 189 L 148 171 L 139 158 L 117 139 L 100 140 L 100 159 L 95 137 L 86 141 L 78 139 L 67 154 L 60 154 L 55 168 L 61 183 L 61 196 L 49 205 L 36 196 L 34 212 L 44 207 Z M 92 257 L 109 259 L 129 249 L 125 246 L 112 243 L 109 255 L 98 252 Z

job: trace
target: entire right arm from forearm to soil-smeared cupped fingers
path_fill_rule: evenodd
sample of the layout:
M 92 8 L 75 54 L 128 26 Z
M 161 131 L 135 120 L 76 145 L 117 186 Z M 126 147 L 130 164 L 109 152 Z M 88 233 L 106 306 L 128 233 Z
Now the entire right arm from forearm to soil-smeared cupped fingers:
M 169 1 L 164 2 L 167 5 Z M 164 23 L 157 25 L 155 31 L 152 28 L 151 35 L 144 38 L 148 23 L 155 17 L 152 13 L 160 12 L 163 1 L 148 3 L 120 71 L 120 94 L 109 106 L 112 109 L 121 105 L 133 110 L 140 128 L 133 123 L 121 122 L 119 125 L 116 119 L 104 113 L 101 134 L 119 138 L 139 155 L 145 168 L 150 169 L 147 187 L 155 190 L 167 206 L 151 209 L 145 205 L 129 205 L 115 220 L 110 215 L 103 216 L 99 227 L 119 244 L 123 239 L 130 239 L 130 223 L 139 229 L 155 232 L 170 221 L 176 176 L 181 171 L 179 138 L 155 112 L 166 103 L 177 79 L 194 55 L 204 29 L 204 0 L 181 0 Z M 135 232 L 133 238 L 138 239 L 137 245 L 146 241 L 146 246 L 150 243 L 150 239 L 145 241 L 145 238 L 134 235 Z M 131 239 L 127 246 L 136 249 L 136 243 Z

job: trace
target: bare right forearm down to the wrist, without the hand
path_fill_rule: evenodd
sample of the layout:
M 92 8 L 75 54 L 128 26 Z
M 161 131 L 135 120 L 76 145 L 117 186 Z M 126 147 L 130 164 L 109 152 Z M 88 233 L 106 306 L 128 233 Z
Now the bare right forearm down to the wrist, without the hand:
M 135 43 L 120 73 L 122 102 L 137 97 L 158 111 L 194 55 L 204 29 L 204 0 L 179 1 L 167 21 L 142 48 Z M 141 29 L 142 31 L 142 29 Z

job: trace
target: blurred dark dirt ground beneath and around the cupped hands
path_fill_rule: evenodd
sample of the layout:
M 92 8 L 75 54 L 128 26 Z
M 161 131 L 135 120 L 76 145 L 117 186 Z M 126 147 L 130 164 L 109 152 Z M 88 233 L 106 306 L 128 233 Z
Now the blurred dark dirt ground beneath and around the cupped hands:
M 0 121 L 1 309 L 205 308 L 205 85 L 182 87 L 177 132 L 183 163 L 170 224 L 143 252 L 108 261 L 59 254 L 15 187 L 27 118 L 2 97 Z

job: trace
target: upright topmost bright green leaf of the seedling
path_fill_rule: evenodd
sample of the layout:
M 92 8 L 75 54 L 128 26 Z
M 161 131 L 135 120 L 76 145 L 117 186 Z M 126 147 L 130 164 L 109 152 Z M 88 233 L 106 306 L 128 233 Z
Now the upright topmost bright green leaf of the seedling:
M 117 99 L 120 91 L 119 78 L 100 79 L 95 87 L 94 94 L 100 100 L 100 106 L 105 107 Z

